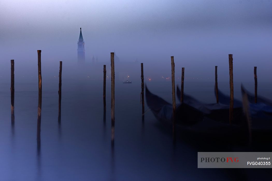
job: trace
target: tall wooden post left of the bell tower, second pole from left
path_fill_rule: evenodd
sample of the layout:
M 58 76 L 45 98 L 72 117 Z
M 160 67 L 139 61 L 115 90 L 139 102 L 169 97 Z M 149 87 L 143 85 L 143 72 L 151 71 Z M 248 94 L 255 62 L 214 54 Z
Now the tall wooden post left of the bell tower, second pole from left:
M 38 99 L 38 120 L 37 120 L 37 144 L 41 144 L 41 112 L 42 112 L 42 71 L 41 71 L 41 50 L 38 52 L 38 88 L 39 88 L 39 99 Z

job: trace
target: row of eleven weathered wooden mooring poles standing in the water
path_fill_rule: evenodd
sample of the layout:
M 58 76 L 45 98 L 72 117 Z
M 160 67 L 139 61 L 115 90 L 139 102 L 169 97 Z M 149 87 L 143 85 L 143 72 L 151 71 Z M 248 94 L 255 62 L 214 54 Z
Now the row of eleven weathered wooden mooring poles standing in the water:
M 38 52 L 38 119 L 37 119 L 37 145 L 40 147 L 41 142 L 41 108 L 42 108 L 42 75 L 41 75 L 41 50 Z M 233 55 L 229 54 L 229 73 L 230 73 L 230 110 L 229 121 L 230 125 L 233 121 Z M 173 138 L 175 138 L 175 63 L 174 56 L 171 56 L 171 69 L 172 69 L 172 106 L 173 106 Z M 104 65 L 104 79 L 103 79 L 103 104 L 104 104 L 104 121 L 106 120 L 106 65 Z M 184 67 L 181 70 L 181 103 L 184 101 Z M 255 80 L 255 103 L 257 103 L 257 67 L 254 67 L 254 80 Z M 62 74 L 62 61 L 60 61 L 59 71 L 59 89 L 58 89 L 58 122 L 61 121 L 61 74 Z M 11 60 L 11 123 L 14 124 L 14 60 Z M 215 92 L 216 102 L 218 103 L 218 83 L 217 83 L 217 66 L 215 66 Z M 143 63 L 141 63 L 141 103 L 142 103 L 142 121 L 144 121 L 144 75 Z M 115 72 L 114 72 L 114 53 L 111 52 L 111 121 L 112 121 L 112 137 L 111 143 L 114 146 L 114 129 L 115 129 Z

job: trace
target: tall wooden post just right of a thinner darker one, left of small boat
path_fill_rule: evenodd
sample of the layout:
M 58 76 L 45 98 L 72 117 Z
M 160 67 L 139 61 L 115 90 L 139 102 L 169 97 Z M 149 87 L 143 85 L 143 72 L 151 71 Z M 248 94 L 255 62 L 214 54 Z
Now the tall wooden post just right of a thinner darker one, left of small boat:
M 114 145 L 114 127 L 115 127 L 115 73 L 114 73 L 114 52 L 110 53 L 110 61 L 111 61 L 111 118 L 112 118 L 112 145 Z

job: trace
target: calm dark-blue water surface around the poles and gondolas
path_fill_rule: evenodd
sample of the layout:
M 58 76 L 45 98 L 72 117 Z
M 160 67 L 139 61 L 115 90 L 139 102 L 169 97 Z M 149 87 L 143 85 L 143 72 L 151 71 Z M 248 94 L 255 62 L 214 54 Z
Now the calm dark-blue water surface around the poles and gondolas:
M 115 146 L 111 147 L 110 81 L 103 121 L 103 81 L 62 84 L 58 124 L 58 80 L 43 83 L 41 150 L 37 150 L 38 83 L 15 83 L 15 125 L 10 121 L 10 84 L 0 86 L 0 180 L 255 180 L 267 170 L 197 169 L 196 146 L 172 142 L 151 111 L 141 121 L 140 81 L 116 83 Z M 150 91 L 171 102 L 171 82 L 146 82 Z M 245 84 L 253 92 L 253 83 Z M 259 93 L 272 99 L 270 84 Z M 214 83 L 185 82 L 185 92 L 215 102 Z M 227 82 L 219 88 L 228 93 Z M 240 83 L 234 85 L 240 99 Z M 177 100 L 178 101 L 178 100 Z M 148 107 L 146 105 L 146 110 Z M 211 150 L 212 151 L 212 150 Z M 258 177 L 256 177 L 256 173 Z M 271 175 L 270 175 L 271 176 Z

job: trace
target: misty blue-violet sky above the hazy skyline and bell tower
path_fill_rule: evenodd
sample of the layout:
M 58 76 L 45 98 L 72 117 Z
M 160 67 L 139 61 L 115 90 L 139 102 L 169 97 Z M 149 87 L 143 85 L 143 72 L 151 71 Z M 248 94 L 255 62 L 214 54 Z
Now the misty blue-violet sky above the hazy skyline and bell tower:
M 218 65 L 218 79 L 228 80 L 233 54 L 235 80 L 253 79 L 257 66 L 269 81 L 271 10 L 271 0 L 1 0 L 0 74 L 10 76 L 14 59 L 17 74 L 36 75 L 38 49 L 44 70 L 75 65 L 81 27 L 87 62 L 108 62 L 115 50 L 121 61 L 143 62 L 146 75 L 171 76 L 174 56 L 177 74 L 185 67 L 185 76 L 213 79 Z

